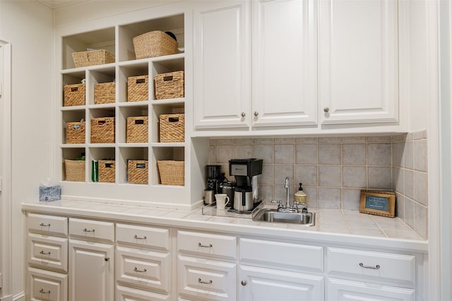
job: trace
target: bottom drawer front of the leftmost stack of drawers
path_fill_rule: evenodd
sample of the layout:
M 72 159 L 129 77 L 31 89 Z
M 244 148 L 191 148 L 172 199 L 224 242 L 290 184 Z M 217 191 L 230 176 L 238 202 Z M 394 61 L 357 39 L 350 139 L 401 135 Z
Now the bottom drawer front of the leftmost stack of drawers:
M 68 276 L 64 274 L 28 268 L 30 300 L 68 300 Z

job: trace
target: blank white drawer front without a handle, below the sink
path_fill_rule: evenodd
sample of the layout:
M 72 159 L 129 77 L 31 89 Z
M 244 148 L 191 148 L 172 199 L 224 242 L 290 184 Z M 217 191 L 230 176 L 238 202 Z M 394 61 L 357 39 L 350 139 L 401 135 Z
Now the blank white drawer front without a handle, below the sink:
M 323 271 L 323 247 L 240 238 L 241 264 Z

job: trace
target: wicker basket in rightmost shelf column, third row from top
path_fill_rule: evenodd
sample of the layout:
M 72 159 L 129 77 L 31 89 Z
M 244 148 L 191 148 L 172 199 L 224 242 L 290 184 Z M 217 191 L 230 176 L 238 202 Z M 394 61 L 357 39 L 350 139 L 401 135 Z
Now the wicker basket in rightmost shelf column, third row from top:
M 160 115 L 160 142 L 184 142 L 185 114 Z

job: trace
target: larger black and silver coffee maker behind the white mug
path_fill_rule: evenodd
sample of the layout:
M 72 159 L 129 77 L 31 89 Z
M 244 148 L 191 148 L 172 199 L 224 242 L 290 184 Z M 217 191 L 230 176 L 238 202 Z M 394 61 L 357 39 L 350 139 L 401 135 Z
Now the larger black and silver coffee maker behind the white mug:
M 231 159 L 229 174 L 235 177 L 234 209 L 249 211 L 259 202 L 258 176 L 262 173 L 262 159 Z

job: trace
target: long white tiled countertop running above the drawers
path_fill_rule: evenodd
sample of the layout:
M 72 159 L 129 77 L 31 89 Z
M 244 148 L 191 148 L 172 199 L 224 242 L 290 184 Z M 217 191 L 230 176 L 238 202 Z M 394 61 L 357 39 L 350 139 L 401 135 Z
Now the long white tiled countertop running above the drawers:
M 264 205 L 269 207 L 269 205 Z M 272 206 L 273 207 L 273 206 Z M 402 220 L 360 214 L 359 211 L 317 209 L 315 226 L 290 223 L 252 221 L 251 217 L 220 216 L 206 207 L 193 210 L 133 206 L 78 200 L 23 202 L 23 211 L 69 215 L 87 219 L 110 219 L 118 222 L 148 223 L 153 226 L 189 228 L 200 231 L 258 235 L 265 238 L 287 238 L 303 242 L 333 242 L 362 246 L 389 247 L 414 252 L 427 252 L 428 241 L 415 233 Z M 210 207 L 211 208 L 211 207 Z M 212 213 L 213 212 L 213 213 Z M 237 215 L 236 215 L 237 216 Z

